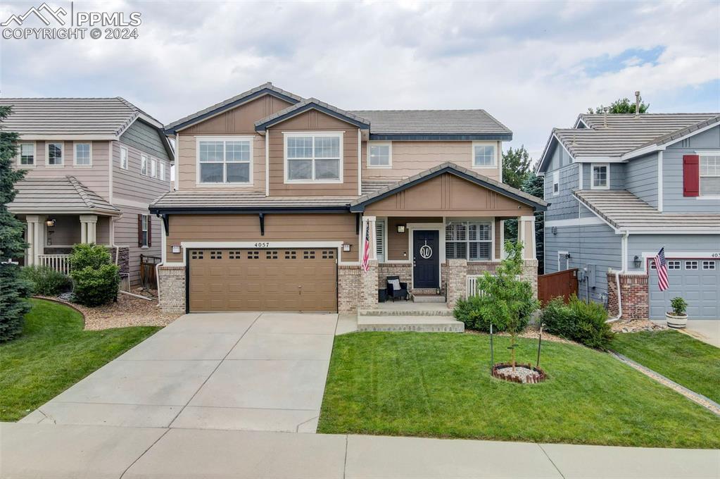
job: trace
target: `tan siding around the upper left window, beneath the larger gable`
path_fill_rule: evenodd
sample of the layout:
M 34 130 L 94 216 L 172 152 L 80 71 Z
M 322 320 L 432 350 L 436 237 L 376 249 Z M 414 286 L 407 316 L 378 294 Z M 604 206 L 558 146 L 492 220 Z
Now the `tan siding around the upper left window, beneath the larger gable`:
M 266 95 L 230 109 L 215 117 L 192 125 L 179 132 L 179 165 L 177 167 L 179 189 L 207 189 L 215 186 L 197 184 L 197 136 L 202 135 L 252 135 L 253 141 L 253 186 L 222 187 L 240 191 L 265 190 L 265 138 L 255 131 L 255 122 L 284 109 L 289 103 Z

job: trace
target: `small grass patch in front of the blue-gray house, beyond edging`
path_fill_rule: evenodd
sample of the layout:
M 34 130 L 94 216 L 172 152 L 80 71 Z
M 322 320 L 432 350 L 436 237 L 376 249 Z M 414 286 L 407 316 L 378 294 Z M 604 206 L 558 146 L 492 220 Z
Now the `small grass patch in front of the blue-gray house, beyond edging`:
M 616 334 L 611 348 L 720 403 L 720 349 L 678 331 Z

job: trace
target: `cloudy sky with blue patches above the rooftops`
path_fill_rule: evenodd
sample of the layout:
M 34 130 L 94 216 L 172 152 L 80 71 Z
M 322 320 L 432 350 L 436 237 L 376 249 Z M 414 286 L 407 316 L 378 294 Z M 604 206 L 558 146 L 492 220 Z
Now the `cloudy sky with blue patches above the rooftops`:
M 32 5 L 4 1 L 0 17 Z M 651 112 L 720 111 L 718 1 L 74 9 L 140 12 L 139 38 L 2 40 L 4 97 L 122 96 L 168 123 L 272 81 L 343 109 L 484 108 L 513 130 L 510 146 L 535 158 L 552 127 L 635 90 Z

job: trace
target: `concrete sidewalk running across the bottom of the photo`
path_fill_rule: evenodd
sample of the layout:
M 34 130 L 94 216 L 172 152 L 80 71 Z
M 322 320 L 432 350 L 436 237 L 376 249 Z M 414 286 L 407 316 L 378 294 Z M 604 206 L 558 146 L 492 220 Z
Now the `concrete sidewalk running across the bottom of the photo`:
M 0 424 L 0 478 L 703 478 L 720 451 Z

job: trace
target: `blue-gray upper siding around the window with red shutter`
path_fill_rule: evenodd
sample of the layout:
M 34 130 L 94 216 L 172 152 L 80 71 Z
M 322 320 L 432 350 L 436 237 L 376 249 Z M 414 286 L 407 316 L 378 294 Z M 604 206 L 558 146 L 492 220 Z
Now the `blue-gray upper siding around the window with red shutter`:
M 663 212 L 706 212 L 720 211 L 720 200 L 699 200 L 683 197 L 683 155 L 694 155 L 697 151 L 720 149 L 720 126 L 691 136 L 667 147 L 662 154 L 662 207 Z

